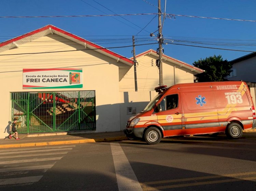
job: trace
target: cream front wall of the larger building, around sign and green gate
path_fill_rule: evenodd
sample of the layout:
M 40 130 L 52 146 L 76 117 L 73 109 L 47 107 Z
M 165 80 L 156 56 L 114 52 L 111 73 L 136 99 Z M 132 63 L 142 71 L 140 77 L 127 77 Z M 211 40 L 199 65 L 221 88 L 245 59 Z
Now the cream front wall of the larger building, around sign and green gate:
M 16 54 L 28 52 L 50 52 L 62 50 L 81 50 L 84 46 L 74 45 L 57 35 L 41 37 L 19 48 L 1 52 Z M 119 63 L 95 51 L 74 51 L 45 54 L 25 54 L 0 56 L 1 111 L 0 137 L 8 136 L 6 127 L 11 119 L 10 92 L 38 91 L 22 89 L 23 69 L 25 68 L 82 68 L 83 88 L 44 89 L 44 91 L 96 91 L 96 131 L 119 131 Z M 114 119 L 114 120 L 113 120 Z

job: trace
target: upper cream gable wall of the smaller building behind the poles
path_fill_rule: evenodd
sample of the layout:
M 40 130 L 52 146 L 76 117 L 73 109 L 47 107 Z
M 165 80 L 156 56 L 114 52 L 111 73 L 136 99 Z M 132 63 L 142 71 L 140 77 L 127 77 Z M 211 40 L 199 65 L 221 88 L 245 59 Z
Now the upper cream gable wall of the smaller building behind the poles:
M 143 55 L 137 59 L 139 63 L 137 70 L 138 91 L 152 91 L 159 86 L 159 69 L 156 67 L 154 55 Z M 163 61 L 163 84 L 168 87 L 179 83 L 193 83 L 194 75 L 186 68 L 177 66 L 169 60 Z M 175 72 L 174 72 L 175 70 Z M 134 67 L 131 67 L 119 83 L 120 91 L 135 91 Z

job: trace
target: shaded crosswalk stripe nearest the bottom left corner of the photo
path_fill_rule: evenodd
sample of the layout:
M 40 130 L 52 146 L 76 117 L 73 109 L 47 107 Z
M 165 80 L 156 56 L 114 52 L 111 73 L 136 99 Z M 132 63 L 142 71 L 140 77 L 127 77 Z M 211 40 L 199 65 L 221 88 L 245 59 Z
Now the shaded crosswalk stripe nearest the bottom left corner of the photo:
M 42 177 L 43 176 L 28 176 L 28 177 L 20 177 L 20 178 L 5 178 L 5 179 L 0 179 L 0 185 L 34 183 L 34 182 L 38 182 Z

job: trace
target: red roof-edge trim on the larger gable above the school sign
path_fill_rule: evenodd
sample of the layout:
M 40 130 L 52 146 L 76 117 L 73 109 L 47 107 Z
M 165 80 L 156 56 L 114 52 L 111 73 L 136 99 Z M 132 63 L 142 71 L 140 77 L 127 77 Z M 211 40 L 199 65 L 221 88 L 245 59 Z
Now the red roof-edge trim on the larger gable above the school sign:
M 17 40 L 23 39 L 23 38 L 25 38 L 25 37 L 31 36 L 31 35 L 33 35 L 33 34 L 42 32 L 42 31 L 47 30 L 47 29 L 49 29 L 49 28 L 52 28 L 52 29 L 55 30 L 55 31 L 58 31 L 58 32 L 60 32 L 60 33 L 62 33 L 62 34 L 65 34 L 65 35 L 68 35 L 68 36 L 70 36 L 70 37 L 72 37 L 72 38 L 75 38 L 75 39 L 77 39 L 77 40 L 79 40 L 79 41 L 85 42 L 86 44 L 88 44 L 88 45 L 90 45 L 90 46 L 92 46 L 92 47 L 94 47 L 94 48 L 103 48 L 103 49 L 100 49 L 100 50 L 103 51 L 103 52 L 106 52 L 106 53 L 108 53 L 108 54 L 110 54 L 110 55 L 113 55 L 113 56 L 115 56 L 115 57 L 117 57 L 117 58 L 120 58 L 120 59 L 124 60 L 125 62 L 128 62 L 128 63 L 130 63 L 130 64 L 133 64 L 133 61 L 132 61 L 131 59 L 129 59 L 129 58 L 126 58 L 126 57 L 124 57 L 124 56 L 121 56 L 121 55 L 119 55 L 119 54 L 117 54 L 117 53 L 115 53 L 115 52 L 112 52 L 112 51 L 108 50 L 108 49 L 104 49 L 104 47 L 101 47 L 101 46 L 99 46 L 99 45 L 96 45 L 96 44 L 94 44 L 93 42 L 90 42 L 90 41 L 88 41 L 88 40 L 85 40 L 85 39 L 83 39 L 83 38 L 81 38 L 81 37 L 79 37 L 79 36 L 76 36 L 76 35 L 74 35 L 74 34 L 71 34 L 71 33 L 67 32 L 67 31 L 63 31 L 62 29 L 59 29 L 59 28 L 57 28 L 57 27 L 55 27 L 55 26 L 53 26 L 53 25 L 51 25 L 51 24 L 48 24 L 48 25 L 46 25 L 45 27 L 42 27 L 42 28 L 37 29 L 37 30 L 35 30 L 35 31 L 26 33 L 26 34 L 24 34 L 24 35 L 22 35 L 22 36 L 18 36 L 18 37 L 16 37 L 16 38 L 7 40 L 7 41 L 5 41 L 5 42 L 2 42 L 2 43 L 0 43 L 0 47 L 3 47 L 3 46 L 5 46 L 5 45 L 8 45 L 8 44 L 10 44 L 10 43 L 12 43 L 12 42 L 15 42 L 15 41 L 17 41 Z

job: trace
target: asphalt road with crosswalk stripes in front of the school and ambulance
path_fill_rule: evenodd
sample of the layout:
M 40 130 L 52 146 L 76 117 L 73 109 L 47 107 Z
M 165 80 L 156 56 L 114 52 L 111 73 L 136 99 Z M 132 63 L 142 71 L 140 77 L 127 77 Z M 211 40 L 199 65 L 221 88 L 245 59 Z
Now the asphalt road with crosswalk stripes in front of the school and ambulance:
M 0 190 L 256 190 L 256 133 L 0 150 Z

